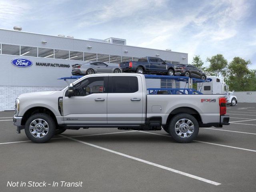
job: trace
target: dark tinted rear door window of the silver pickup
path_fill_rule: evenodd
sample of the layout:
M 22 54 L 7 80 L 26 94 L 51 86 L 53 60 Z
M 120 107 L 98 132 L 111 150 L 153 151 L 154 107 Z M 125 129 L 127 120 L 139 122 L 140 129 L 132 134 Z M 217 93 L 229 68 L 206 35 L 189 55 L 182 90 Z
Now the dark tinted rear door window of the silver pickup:
M 112 77 L 112 93 L 134 93 L 138 90 L 137 77 Z

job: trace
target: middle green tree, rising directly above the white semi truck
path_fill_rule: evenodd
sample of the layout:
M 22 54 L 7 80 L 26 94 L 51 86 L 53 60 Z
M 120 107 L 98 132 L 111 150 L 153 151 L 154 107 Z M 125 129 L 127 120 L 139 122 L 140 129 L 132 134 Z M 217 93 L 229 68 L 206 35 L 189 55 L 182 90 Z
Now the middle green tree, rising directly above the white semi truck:
M 226 60 L 222 54 L 216 54 L 210 58 L 208 57 L 206 61 L 210 62 L 207 69 L 208 74 L 218 77 L 226 75 L 228 60 Z

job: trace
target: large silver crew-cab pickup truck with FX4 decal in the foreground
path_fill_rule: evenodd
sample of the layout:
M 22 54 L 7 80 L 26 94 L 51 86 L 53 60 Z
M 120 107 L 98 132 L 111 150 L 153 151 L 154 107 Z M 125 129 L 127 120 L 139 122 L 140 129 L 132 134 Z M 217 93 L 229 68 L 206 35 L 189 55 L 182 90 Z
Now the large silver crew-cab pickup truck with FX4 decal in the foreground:
M 60 91 L 21 94 L 13 123 L 37 143 L 66 129 L 161 130 L 181 143 L 199 127 L 228 125 L 224 95 L 150 94 L 143 74 L 92 74 Z

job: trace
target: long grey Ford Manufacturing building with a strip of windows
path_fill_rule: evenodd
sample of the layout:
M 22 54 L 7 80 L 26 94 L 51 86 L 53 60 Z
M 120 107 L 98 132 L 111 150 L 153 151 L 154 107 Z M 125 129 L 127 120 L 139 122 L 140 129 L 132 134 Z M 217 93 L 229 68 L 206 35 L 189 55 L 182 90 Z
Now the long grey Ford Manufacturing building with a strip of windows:
M 0 29 L 0 111 L 14 110 L 14 101 L 20 94 L 64 88 L 67 83 L 58 78 L 71 76 L 73 64 L 100 61 L 114 65 L 144 56 L 188 64 L 186 53 L 128 46 L 126 40 L 119 38 L 82 40 L 22 32 L 20 27 Z M 29 60 L 28 66 L 17 66 L 22 60 Z M 172 88 L 172 82 L 150 79 L 147 86 Z

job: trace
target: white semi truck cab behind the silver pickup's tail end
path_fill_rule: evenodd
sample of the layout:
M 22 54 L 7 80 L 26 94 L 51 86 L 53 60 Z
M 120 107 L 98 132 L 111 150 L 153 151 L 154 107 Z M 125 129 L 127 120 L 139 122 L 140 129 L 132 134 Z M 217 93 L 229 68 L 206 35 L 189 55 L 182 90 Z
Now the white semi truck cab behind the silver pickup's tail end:
M 234 90 L 229 91 L 228 85 L 222 78 L 217 76 L 208 76 L 206 82 L 198 83 L 198 91 L 203 94 L 225 94 L 227 104 L 235 106 L 237 104 L 237 98 L 234 96 Z

